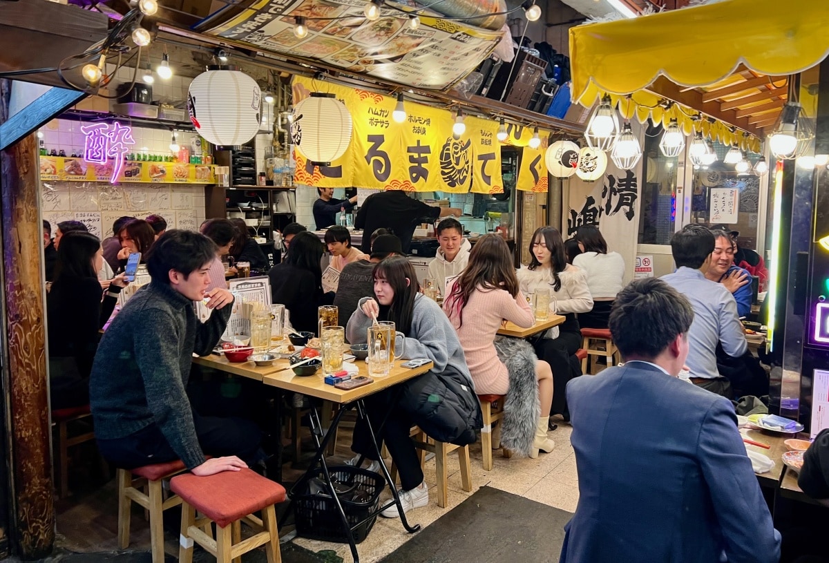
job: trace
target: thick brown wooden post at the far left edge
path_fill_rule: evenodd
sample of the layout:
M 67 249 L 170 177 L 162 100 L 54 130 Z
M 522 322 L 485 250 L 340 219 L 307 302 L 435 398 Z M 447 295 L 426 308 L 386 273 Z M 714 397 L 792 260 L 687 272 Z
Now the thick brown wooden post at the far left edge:
M 0 124 L 8 119 L 11 82 L 0 80 Z M 0 151 L 2 237 L 2 387 L 11 531 L 17 555 L 48 555 L 55 542 L 49 396 L 46 381 L 46 311 L 43 303 L 39 166 L 34 133 Z

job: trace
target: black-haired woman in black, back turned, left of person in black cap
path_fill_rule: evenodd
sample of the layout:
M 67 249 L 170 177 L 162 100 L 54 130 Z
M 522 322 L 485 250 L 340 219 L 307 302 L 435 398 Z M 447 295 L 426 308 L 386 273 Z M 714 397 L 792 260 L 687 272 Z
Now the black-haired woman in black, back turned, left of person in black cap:
M 291 251 L 281 264 L 270 269 L 270 290 L 274 303 L 290 312 L 294 330 L 317 332 L 317 308 L 333 303 L 334 294 L 322 294 L 320 260 L 325 249 L 312 232 L 304 231 L 291 240 Z M 340 319 L 343 323 L 347 319 Z

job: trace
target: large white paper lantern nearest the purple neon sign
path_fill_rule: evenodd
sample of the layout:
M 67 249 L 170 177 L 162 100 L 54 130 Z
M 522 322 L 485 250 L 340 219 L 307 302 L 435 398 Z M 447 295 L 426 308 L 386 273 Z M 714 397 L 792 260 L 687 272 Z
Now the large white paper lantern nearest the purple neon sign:
M 247 143 L 259 131 L 262 92 L 238 70 L 208 70 L 190 83 L 187 109 L 196 131 L 213 144 Z

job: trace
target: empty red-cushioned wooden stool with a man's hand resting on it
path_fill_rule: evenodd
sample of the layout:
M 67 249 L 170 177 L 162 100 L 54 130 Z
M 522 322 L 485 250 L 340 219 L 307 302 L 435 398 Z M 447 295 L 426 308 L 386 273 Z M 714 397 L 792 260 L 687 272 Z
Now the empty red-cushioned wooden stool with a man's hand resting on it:
M 282 561 L 274 511 L 274 504 L 285 500 L 285 489 L 279 483 L 245 468 L 207 477 L 185 473 L 172 478 L 170 488 L 184 501 L 179 563 L 193 561 L 194 541 L 216 557 L 217 563 L 230 563 L 263 545 L 268 563 Z M 253 515 L 259 510 L 261 520 Z M 196 520 L 196 511 L 203 517 Z M 241 541 L 242 520 L 258 531 L 245 541 Z M 215 540 L 202 529 L 210 522 L 216 522 Z

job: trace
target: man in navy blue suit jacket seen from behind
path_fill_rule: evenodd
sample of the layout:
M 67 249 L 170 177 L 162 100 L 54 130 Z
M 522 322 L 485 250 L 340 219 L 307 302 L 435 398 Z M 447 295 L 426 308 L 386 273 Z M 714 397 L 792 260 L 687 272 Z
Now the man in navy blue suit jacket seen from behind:
M 729 400 L 677 378 L 691 303 L 638 279 L 613 303 L 625 361 L 567 385 L 579 505 L 561 563 L 772 563 L 780 534 Z

